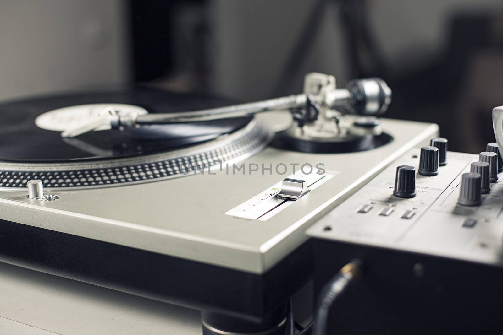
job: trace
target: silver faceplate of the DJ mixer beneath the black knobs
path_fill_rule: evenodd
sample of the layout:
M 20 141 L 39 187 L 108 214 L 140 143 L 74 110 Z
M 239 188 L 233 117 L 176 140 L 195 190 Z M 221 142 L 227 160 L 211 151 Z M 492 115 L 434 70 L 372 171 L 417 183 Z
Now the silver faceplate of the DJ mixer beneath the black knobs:
M 419 150 L 397 159 L 308 229 L 311 237 L 503 266 L 503 184 L 493 183 L 479 206 L 457 203 L 461 176 L 478 155 L 448 152 L 437 176 L 417 175 L 414 198 L 392 195 L 398 165 L 417 168 Z M 356 212 L 360 206 L 372 209 Z M 387 216 L 382 213 L 393 208 Z M 330 227 L 330 230 L 326 229 Z

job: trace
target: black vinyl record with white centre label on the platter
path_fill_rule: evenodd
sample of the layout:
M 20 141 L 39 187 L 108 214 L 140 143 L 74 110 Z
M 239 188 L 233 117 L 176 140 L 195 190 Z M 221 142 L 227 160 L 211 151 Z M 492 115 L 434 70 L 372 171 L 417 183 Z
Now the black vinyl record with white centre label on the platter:
M 99 130 L 62 138 L 61 127 L 75 125 L 103 106 L 140 113 L 212 108 L 229 101 L 170 93 L 148 87 L 38 97 L 0 104 L 0 161 L 67 162 L 165 152 L 214 139 L 246 126 L 251 118 Z M 77 106 L 77 107 L 75 107 Z M 58 128 L 59 127 L 59 128 Z

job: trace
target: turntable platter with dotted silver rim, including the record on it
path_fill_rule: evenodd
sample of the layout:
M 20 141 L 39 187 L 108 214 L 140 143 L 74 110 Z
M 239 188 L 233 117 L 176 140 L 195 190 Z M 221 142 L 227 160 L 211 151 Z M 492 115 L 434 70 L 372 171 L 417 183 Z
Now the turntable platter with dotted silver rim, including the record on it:
M 39 97 L 0 105 L 0 188 L 25 188 L 40 179 L 48 188 L 144 183 L 208 171 L 262 150 L 271 130 L 253 117 L 103 130 L 62 138 L 61 129 L 117 113 L 170 113 L 228 101 L 140 87 L 122 91 Z M 89 120 L 88 120 L 89 121 Z

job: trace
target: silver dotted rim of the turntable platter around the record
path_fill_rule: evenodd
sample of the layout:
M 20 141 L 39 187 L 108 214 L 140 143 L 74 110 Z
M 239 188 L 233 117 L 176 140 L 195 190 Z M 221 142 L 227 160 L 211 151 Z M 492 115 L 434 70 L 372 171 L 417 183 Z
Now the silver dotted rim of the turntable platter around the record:
M 106 187 L 182 177 L 221 162 L 245 159 L 262 150 L 271 139 L 269 129 L 251 122 L 223 140 L 193 148 L 129 159 L 67 164 L 1 164 L 0 187 L 24 188 L 41 179 L 48 188 Z M 185 153 L 185 154 L 183 154 Z M 8 166 L 9 169 L 5 169 Z M 78 168 L 79 166 L 87 168 Z M 73 169 L 68 169 L 73 167 Z

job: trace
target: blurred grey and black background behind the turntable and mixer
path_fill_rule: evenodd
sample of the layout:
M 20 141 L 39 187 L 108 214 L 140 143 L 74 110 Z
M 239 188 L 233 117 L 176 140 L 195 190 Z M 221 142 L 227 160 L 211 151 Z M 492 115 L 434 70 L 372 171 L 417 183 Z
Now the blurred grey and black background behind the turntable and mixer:
M 311 71 L 382 77 L 386 117 L 478 153 L 503 105 L 503 1 L 0 2 L 0 101 L 136 83 L 250 101 Z

